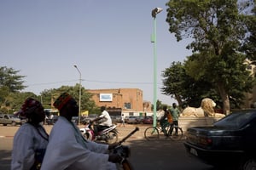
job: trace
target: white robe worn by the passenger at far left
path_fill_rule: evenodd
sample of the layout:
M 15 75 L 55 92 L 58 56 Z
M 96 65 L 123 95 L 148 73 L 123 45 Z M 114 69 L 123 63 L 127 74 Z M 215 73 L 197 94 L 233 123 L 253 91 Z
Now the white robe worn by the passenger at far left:
M 39 131 L 45 138 L 48 138 L 43 128 L 39 128 Z M 15 133 L 11 170 L 30 169 L 35 161 L 35 150 L 45 150 L 47 144 L 48 141 L 40 136 L 36 127 L 33 127 L 29 123 L 20 126 Z

